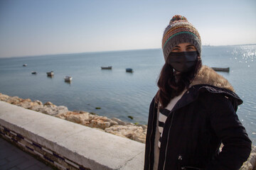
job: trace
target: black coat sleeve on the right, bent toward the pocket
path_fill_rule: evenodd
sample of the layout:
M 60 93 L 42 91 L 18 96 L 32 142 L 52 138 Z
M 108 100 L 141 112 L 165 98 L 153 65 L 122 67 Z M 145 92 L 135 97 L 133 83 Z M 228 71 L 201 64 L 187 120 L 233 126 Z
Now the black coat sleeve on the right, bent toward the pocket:
M 224 146 L 206 169 L 240 169 L 250 155 L 252 142 L 228 98 L 218 94 L 210 101 L 210 125 Z

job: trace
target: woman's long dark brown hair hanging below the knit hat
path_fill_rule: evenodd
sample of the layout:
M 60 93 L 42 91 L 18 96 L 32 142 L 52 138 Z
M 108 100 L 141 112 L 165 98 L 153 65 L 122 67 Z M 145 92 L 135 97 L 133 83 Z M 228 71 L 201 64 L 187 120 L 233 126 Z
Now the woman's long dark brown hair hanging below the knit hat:
M 198 57 L 195 67 L 193 67 L 190 72 L 176 75 L 174 73 L 174 68 L 165 62 L 157 82 L 159 91 L 156 94 L 156 102 L 161 103 L 161 108 L 166 108 L 171 101 L 171 98 L 178 96 L 185 88 L 188 88 L 201 66 L 201 57 Z

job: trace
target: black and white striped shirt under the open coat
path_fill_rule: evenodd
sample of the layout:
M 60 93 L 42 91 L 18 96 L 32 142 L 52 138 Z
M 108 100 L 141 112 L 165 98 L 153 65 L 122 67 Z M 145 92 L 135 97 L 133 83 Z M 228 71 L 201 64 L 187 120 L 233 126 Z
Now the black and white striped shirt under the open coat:
M 186 90 L 184 90 L 180 95 L 172 98 L 170 103 L 166 106 L 166 108 L 159 109 L 159 128 L 158 128 L 160 133 L 160 138 L 158 143 L 159 148 L 161 147 L 161 138 L 162 138 L 162 133 L 164 131 L 164 124 L 166 122 L 166 119 L 168 115 L 171 113 L 171 110 L 174 108 L 174 106 L 178 102 L 178 100 L 181 99 L 185 91 Z

